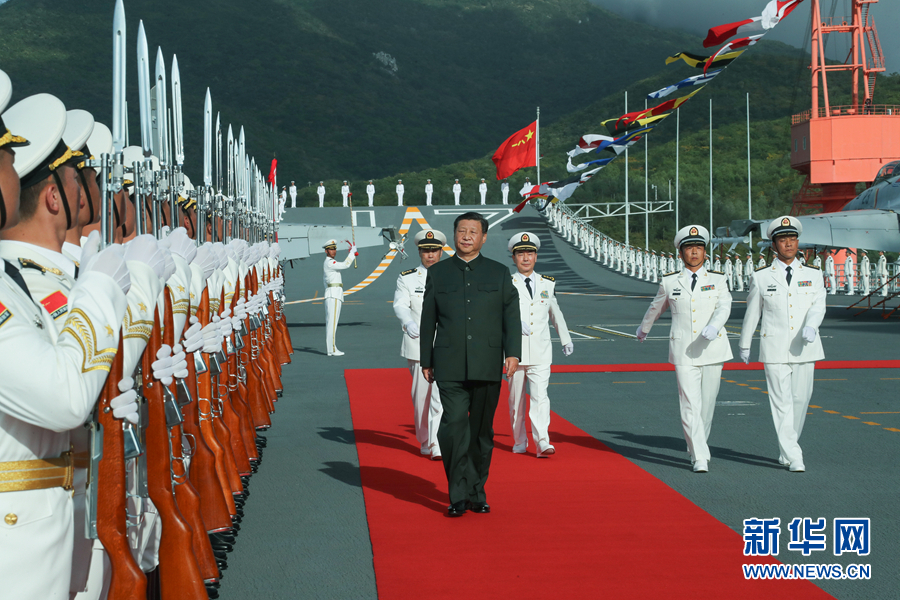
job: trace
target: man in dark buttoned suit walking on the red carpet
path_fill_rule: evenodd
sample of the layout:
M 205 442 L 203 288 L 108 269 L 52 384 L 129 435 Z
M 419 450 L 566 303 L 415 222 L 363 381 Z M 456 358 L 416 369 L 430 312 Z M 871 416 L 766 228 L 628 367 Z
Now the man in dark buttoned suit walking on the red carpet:
M 484 483 L 503 357 L 511 377 L 522 356 L 522 322 L 509 268 L 481 256 L 487 219 L 465 213 L 453 229 L 456 254 L 428 269 L 419 350 L 422 374 L 437 381 L 444 404 L 438 443 L 450 491 L 447 514 L 458 517 L 491 510 Z

